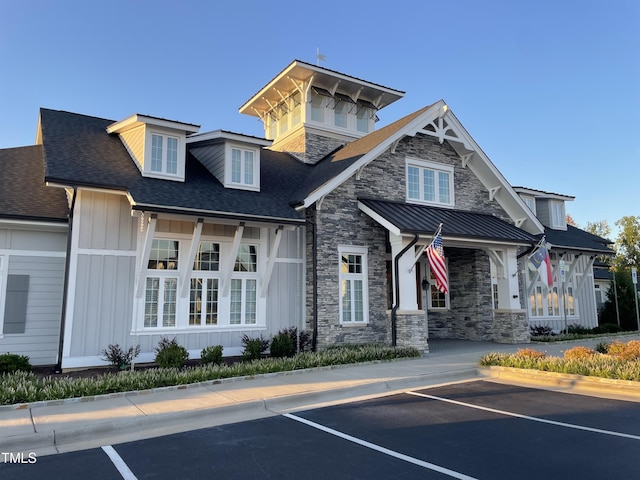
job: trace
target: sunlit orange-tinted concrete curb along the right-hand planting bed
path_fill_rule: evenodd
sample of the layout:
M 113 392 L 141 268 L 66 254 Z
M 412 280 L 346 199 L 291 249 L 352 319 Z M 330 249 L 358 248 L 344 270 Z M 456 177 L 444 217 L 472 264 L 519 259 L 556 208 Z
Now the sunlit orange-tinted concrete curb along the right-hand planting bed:
M 572 390 L 575 393 L 598 394 L 640 402 L 640 382 L 497 366 L 480 367 L 478 372 L 482 376 L 506 383 Z

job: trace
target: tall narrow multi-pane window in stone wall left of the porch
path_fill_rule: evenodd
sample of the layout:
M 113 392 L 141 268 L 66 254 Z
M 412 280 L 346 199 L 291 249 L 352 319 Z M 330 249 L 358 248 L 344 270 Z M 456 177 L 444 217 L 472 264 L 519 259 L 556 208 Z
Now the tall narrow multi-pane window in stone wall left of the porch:
M 340 256 L 340 321 L 364 323 L 367 312 L 366 249 L 341 249 Z

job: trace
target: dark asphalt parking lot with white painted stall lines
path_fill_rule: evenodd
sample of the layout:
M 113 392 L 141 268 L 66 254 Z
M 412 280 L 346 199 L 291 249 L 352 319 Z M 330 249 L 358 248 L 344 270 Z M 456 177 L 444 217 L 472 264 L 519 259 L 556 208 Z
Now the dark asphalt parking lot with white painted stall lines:
M 638 403 L 472 381 L 32 462 L 0 455 L 0 478 L 602 480 L 640 478 L 639 458 Z

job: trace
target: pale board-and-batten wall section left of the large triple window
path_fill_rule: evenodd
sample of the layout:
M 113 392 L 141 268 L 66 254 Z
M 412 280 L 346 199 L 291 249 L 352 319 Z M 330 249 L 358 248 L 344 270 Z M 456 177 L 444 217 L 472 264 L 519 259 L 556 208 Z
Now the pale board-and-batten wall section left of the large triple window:
M 78 192 L 63 368 L 96 364 L 109 344 L 130 345 L 138 222 L 123 195 Z M 83 357 L 93 361 L 70 360 Z

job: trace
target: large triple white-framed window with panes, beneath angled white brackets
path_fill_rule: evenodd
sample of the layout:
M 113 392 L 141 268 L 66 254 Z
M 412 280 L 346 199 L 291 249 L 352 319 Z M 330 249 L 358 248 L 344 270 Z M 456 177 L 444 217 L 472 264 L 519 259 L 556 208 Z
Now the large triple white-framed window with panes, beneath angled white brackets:
M 183 286 L 189 241 L 154 239 L 144 279 L 142 331 L 261 325 L 260 242 L 241 243 L 233 261 L 232 248 L 228 238 L 201 240 Z

